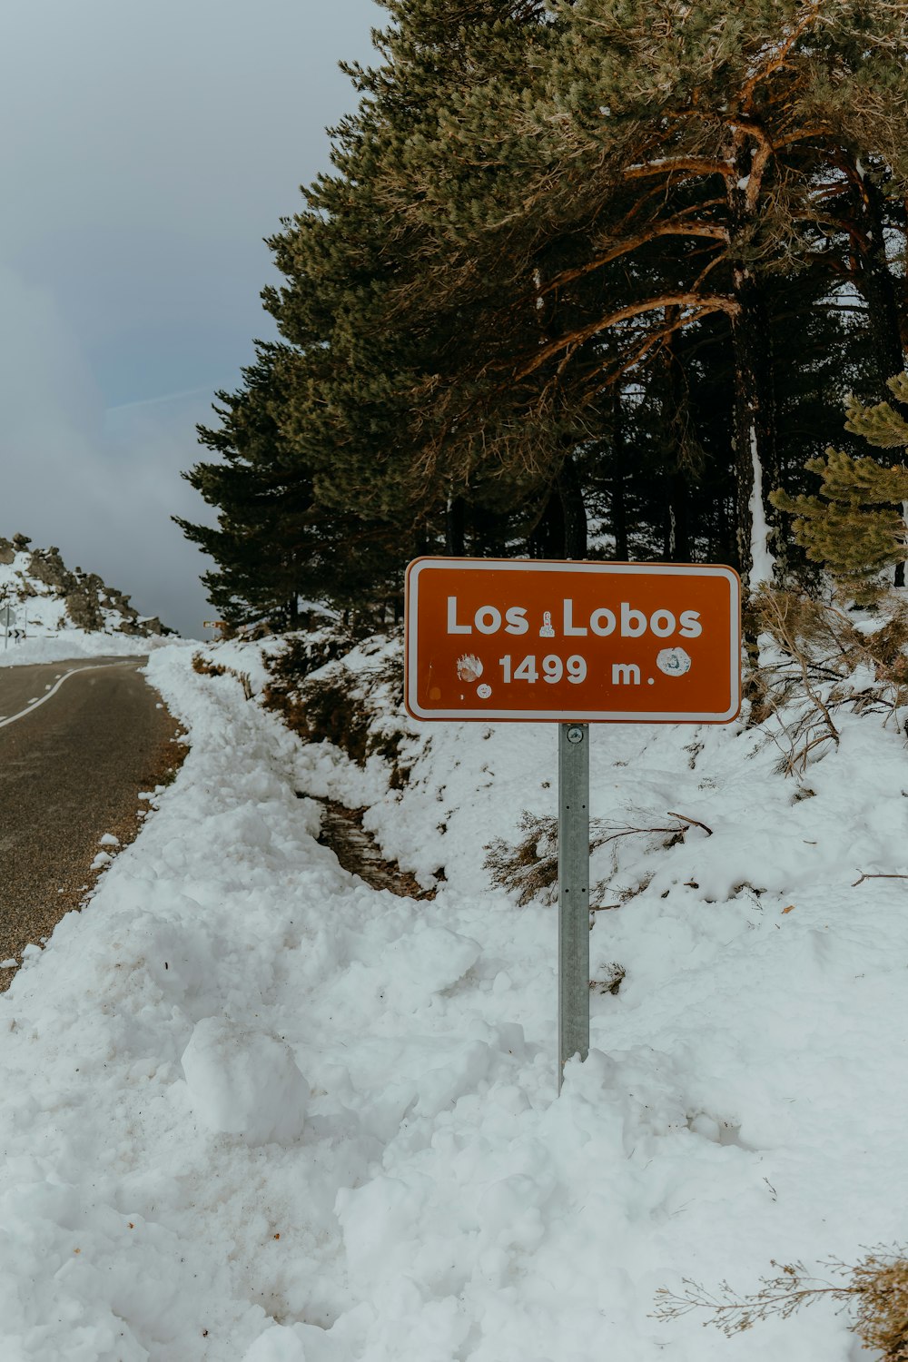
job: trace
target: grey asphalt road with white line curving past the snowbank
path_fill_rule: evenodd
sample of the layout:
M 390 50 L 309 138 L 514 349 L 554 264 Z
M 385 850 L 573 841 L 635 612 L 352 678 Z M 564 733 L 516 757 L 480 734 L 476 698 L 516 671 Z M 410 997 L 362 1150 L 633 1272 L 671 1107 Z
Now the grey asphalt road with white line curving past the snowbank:
M 131 842 L 139 793 L 180 761 L 177 726 L 139 674 L 146 661 L 0 667 L 0 960 L 39 945 L 86 899 L 101 836 Z M 12 974 L 0 970 L 0 990 Z

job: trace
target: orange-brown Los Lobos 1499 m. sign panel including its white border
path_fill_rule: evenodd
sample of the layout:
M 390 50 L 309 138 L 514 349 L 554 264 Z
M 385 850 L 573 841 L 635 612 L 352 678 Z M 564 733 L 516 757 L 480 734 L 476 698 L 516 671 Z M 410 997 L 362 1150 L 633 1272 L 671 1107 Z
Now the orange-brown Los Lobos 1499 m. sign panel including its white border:
M 728 723 L 741 708 L 738 573 L 417 558 L 406 704 L 417 719 Z

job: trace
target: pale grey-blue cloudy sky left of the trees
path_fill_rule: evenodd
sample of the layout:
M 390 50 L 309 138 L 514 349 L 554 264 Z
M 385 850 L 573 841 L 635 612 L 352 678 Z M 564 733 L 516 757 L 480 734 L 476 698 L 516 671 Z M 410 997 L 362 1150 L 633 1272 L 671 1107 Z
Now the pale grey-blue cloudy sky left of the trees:
M 5 0 L 0 535 L 57 545 L 188 636 L 210 617 L 180 473 L 274 334 L 263 237 L 328 166 L 373 0 Z

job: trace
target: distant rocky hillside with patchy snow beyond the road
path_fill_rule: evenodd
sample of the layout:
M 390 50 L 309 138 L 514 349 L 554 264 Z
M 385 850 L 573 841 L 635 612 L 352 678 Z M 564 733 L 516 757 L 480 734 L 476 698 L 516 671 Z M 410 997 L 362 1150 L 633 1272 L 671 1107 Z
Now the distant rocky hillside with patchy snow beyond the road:
M 59 549 L 30 543 L 0 537 L 0 666 L 146 652 L 169 632 L 97 573 L 71 572 Z

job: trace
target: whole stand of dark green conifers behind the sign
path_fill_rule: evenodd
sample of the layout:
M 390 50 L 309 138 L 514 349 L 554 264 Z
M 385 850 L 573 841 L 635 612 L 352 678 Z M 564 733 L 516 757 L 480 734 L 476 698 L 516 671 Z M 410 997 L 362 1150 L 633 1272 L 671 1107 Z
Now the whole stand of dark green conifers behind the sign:
M 421 553 L 901 568 L 905 4 L 384 10 L 185 474 L 222 617 L 387 618 Z

